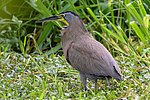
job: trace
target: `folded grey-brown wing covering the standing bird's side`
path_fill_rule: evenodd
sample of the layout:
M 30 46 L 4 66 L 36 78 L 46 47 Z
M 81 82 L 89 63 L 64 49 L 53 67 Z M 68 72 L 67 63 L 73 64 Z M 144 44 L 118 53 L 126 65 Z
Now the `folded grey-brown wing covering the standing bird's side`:
M 119 66 L 116 66 L 115 60 L 107 49 L 88 36 L 83 36 L 72 43 L 68 50 L 68 58 L 72 67 L 82 73 L 112 77 L 120 74 Z

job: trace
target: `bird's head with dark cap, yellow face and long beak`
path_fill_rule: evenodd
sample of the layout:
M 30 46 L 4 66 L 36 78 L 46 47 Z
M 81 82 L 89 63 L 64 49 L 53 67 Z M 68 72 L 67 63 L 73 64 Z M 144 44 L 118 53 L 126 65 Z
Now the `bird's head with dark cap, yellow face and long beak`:
M 59 15 L 54 15 L 48 18 L 44 18 L 39 20 L 38 22 L 45 22 L 45 21 L 61 21 L 65 23 L 67 26 L 70 25 L 73 21 L 76 21 L 75 19 L 80 19 L 80 17 L 71 11 L 62 12 Z

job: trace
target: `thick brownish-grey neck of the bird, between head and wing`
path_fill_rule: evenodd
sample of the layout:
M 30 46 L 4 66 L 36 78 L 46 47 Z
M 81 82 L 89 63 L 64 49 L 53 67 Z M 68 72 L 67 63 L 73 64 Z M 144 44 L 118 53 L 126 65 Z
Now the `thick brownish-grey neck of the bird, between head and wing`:
M 82 22 L 71 23 L 68 27 L 64 28 L 61 34 L 61 44 L 64 53 L 66 53 L 66 50 L 72 43 L 81 39 L 82 35 L 90 36 Z

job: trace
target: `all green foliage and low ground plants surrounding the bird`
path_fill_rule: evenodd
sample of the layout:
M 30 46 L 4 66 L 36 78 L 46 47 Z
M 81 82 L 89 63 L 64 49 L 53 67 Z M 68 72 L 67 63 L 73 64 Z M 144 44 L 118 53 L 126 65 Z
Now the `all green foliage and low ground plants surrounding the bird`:
M 99 81 L 83 91 L 79 75 L 64 59 L 61 23 L 35 21 L 74 11 L 111 52 L 124 81 Z M 150 99 L 149 0 L 1 0 L 1 99 Z M 85 95 L 87 94 L 87 97 Z

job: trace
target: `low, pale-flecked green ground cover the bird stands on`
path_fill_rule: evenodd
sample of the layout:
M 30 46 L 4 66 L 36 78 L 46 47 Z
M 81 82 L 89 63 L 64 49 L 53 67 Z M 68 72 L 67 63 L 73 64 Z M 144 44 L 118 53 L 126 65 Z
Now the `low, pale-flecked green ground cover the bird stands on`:
M 51 100 L 128 100 L 150 99 L 149 67 L 142 61 L 117 56 L 124 81 L 112 79 L 110 89 L 104 80 L 98 81 L 98 90 L 88 82 L 84 92 L 79 73 L 67 64 L 64 57 L 39 54 L 21 55 L 15 52 L 0 53 L 0 98 L 1 99 L 51 99 Z M 87 95 L 87 97 L 85 97 Z

